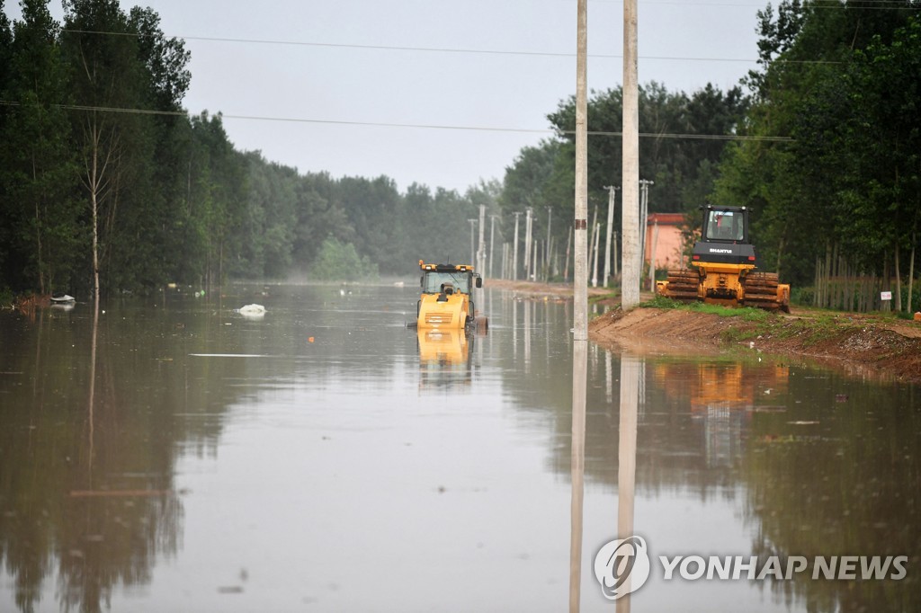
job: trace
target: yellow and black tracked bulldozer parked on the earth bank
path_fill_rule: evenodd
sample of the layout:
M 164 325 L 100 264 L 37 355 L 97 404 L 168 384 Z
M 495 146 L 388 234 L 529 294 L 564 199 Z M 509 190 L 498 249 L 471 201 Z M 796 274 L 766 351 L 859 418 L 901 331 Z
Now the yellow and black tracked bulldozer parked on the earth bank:
M 691 252 L 691 268 L 670 270 L 656 292 L 685 302 L 729 307 L 759 307 L 790 312 L 790 286 L 776 272 L 755 272 L 749 238 L 749 209 L 744 206 L 701 207 L 704 226 Z

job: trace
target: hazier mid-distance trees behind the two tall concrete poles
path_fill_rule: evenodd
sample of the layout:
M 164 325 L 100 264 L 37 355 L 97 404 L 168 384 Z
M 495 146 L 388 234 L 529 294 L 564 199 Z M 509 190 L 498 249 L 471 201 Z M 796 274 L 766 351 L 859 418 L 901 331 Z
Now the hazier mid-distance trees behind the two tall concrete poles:
M 621 87 L 592 92 L 589 98 L 589 214 L 602 226 L 607 219 L 607 186 L 620 188 L 623 183 L 623 102 Z M 639 170 L 641 179 L 652 182 L 649 212 L 696 211 L 697 205 L 708 202 L 723 150 L 735 127 L 744 121 L 748 106 L 740 87 L 723 92 L 708 85 L 690 95 L 670 92 L 658 83 L 640 87 Z M 504 217 L 530 207 L 535 227 L 542 233 L 551 230 L 551 237 L 539 241 L 539 249 L 542 275 L 552 277 L 565 274 L 565 245 L 575 214 L 575 97 L 562 100 L 547 118 L 554 138 L 521 150 L 506 170 L 498 200 Z M 616 208 L 614 232 L 621 228 L 619 205 Z M 545 236 L 542 233 L 537 236 Z M 600 249 L 604 247 L 601 240 Z

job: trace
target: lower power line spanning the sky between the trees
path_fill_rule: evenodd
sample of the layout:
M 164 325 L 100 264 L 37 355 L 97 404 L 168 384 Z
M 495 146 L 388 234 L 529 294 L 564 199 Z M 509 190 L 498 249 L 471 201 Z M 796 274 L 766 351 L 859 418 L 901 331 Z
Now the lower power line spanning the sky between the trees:
M 0 100 L 0 106 L 18 107 L 21 106 L 13 100 Z M 55 109 L 62 110 L 94 110 L 99 112 L 111 113 L 129 113 L 136 115 L 163 115 L 170 117 L 198 117 L 198 114 L 190 113 L 184 110 L 154 110 L 154 109 L 126 109 L 118 107 L 97 107 L 80 104 L 52 104 Z M 421 130 L 454 130 L 467 132 L 498 132 L 498 133 L 530 133 L 530 134 L 573 134 L 573 130 L 555 130 L 551 128 L 509 128 L 503 126 L 473 126 L 473 125 L 450 125 L 443 123 L 397 123 L 389 121 L 351 121 L 351 120 L 323 120 L 309 119 L 299 117 L 269 117 L 264 115 L 232 115 L 227 113 L 217 113 L 221 119 L 241 120 L 241 121 L 281 121 L 289 123 L 318 123 L 331 125 L 352 125 L 378 128 L 412 128 Z M 622 136 L 619 132 L 607 131 L 589 131 L 589 136 Z M 640 133 L 643 138 L 667 138 L 667 139 L 685 139 L 685 140 L 712 140 L 712 141 L 767 141 L 767 142 L 792 142 L 792 138 L 787 136 L 743 136 L 739 134 L 682 134 L 682 133 Z

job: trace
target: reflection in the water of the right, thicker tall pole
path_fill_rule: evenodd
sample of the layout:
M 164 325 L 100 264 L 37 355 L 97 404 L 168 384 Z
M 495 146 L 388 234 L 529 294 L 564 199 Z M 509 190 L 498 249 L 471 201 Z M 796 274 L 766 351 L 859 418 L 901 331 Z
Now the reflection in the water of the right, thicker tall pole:
M 621 405 L 617 453 L 617 538 L 634 533 L 634 492 L 636 478 L 636 413 L 639 380 L 643 364 L 634 355 L 621 355 Z M 630 581 L 624 581 L 625 596 L 617 600 L 617 612 L 630 612 Z

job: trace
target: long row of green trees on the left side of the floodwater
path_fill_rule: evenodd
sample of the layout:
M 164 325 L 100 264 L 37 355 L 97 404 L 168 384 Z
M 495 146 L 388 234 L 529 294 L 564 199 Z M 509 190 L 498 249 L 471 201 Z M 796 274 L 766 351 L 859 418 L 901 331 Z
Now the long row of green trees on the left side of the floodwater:
M 0 0 L 0 291 L 310 276 L 327 238 L 390 273 L 469 252 L 496 185 L 401 193 L 240 152 L 220 114 L 182 109 L 189 52 L 151 9 L 67 0 L 59 24 L 48 4 L 22 0 L 10 23 Z

